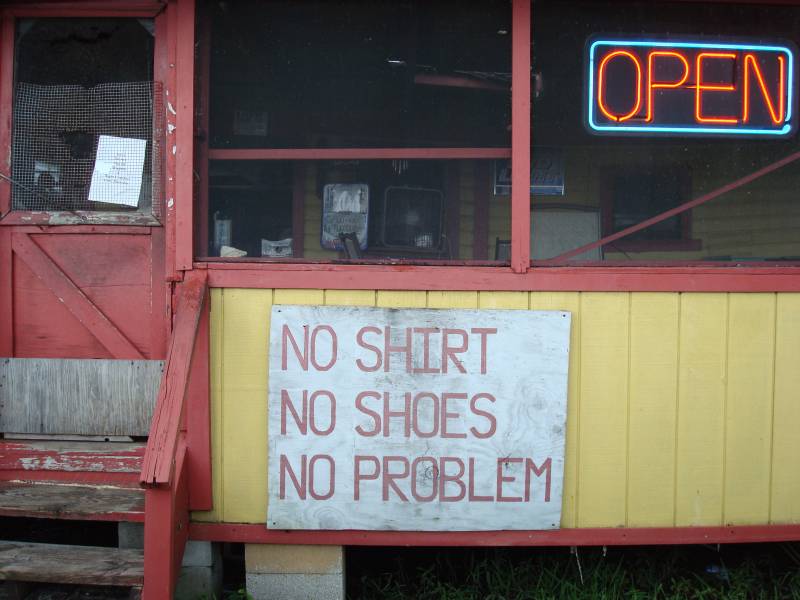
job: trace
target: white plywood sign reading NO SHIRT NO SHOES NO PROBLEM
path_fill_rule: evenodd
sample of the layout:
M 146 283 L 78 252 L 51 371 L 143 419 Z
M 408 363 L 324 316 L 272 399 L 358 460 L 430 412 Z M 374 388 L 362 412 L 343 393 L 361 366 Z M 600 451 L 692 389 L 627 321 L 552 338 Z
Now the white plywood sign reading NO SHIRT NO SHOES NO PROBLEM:
M 554 529 L 570 314 L 274 306 L 271 529 Z

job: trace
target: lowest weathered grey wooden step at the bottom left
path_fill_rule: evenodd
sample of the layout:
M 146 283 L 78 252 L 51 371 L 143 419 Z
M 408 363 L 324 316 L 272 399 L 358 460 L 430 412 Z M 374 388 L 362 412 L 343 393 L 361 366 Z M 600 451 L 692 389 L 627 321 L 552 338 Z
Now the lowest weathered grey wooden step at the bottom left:
M 141 586 L 144 552 L 0 541 L 0 580 Z

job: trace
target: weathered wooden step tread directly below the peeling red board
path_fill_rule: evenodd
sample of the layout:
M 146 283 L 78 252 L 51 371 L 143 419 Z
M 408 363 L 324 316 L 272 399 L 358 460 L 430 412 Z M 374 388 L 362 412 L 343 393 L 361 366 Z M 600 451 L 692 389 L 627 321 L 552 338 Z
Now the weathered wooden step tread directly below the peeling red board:
M 0 515 L 144 521 L 144 490 L 110 485 L 0 481 Z

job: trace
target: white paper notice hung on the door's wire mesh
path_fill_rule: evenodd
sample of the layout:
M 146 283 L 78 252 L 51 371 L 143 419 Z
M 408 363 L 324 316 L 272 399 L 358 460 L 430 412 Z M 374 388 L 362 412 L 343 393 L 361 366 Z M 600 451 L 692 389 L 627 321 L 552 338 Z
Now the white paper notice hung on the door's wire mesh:
M 147 140 L 101 135 L 89 201 L 138 206 Z

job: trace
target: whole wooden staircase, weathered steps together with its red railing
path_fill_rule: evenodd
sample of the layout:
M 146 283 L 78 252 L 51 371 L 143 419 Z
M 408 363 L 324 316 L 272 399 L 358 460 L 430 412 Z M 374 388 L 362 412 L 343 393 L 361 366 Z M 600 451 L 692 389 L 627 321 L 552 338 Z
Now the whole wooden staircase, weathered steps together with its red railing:
M 0 581 L 130 588 L 172 597 L 189 511 L 211 498 L 209 304 L 205 271 L 176 286 L 176 308 L 146 446 L 0 439 L 0 518 L 143 522 L 144 550 L 3 540 Z M 6 536 L 7 537 L 7 536 Z

